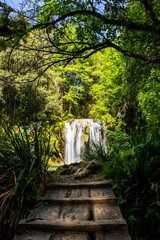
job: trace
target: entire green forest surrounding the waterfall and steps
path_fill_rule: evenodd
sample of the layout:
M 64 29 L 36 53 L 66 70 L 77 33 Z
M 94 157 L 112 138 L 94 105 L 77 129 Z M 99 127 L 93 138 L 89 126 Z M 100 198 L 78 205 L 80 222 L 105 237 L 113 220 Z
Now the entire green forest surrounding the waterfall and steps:
M 0 1 L 2 239 L 45 191 L 77 118 L 105 123 L 107 156 L 84 158 L 113 180 L 132 239 L 160 239 L 158 0 Z

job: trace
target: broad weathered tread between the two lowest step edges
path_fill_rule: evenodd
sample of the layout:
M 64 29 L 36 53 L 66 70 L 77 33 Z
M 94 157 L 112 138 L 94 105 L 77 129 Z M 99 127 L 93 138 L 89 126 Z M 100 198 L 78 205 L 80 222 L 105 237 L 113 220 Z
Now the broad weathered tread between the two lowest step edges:
M 108 204 L 55 204 L 51 206 L 40 206 L 35 209 L 26 222 L 33 220 L 79 222 L 99 221 L 109 219 L 122 219 L 120 209 L 116 203 Z

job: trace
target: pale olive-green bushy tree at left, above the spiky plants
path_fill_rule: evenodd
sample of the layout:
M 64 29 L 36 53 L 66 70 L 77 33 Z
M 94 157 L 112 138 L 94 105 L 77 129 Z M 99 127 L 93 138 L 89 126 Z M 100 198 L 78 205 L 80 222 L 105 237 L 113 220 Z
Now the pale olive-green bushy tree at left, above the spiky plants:
M 30 36 L 26 45 L 30 47 L 32 41 L 35 45 L 39 44 L 38 39 Z M 46 118 L 53 121 L 54 115 L 61 115 L 61 99 L 54 70 L 46 71 L 35 81 L 39 58 L 41 53 L 37 55 L 34 51 L 15 50 L 10 54 L 9 49 L 0 54 L 1 112 L 11 124 L 19 121 L 29 124 Z

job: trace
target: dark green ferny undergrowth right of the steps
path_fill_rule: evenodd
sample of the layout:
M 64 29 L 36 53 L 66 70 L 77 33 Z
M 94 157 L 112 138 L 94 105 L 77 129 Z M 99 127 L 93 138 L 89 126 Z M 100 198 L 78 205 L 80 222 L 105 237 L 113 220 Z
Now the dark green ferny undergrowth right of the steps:
M 159 239 L 160 133 L 108 134 L 103 171 L 113 179 L 133 239 Z

